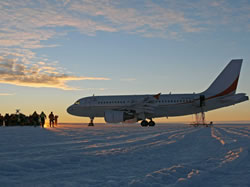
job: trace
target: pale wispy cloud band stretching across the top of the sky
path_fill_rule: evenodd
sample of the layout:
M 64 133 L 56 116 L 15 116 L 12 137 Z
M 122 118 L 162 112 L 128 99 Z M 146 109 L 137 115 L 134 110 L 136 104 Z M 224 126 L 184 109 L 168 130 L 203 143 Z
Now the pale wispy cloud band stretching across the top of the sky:
M 125 32 L 144 37 L 176 38 L 197 33 L 211 24 L 248 26 L 250 5 L 228 1 L 0 1 L 0 44 L 27 49 L 48 47 L 42 41 L 78 30 Z M 60 28 L 60 29 L 58 29 Z M 174 33 L 174 34 L 173 34 Z M 53 45 L 52 45 L 53 46 Z

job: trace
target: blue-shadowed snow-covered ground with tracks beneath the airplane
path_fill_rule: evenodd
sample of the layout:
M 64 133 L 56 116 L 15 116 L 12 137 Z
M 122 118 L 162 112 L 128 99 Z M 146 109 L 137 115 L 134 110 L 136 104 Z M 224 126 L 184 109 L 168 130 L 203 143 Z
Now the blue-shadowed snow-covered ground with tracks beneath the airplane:
M 250 125 L 1 127 L 0 186 L 250 186 Z

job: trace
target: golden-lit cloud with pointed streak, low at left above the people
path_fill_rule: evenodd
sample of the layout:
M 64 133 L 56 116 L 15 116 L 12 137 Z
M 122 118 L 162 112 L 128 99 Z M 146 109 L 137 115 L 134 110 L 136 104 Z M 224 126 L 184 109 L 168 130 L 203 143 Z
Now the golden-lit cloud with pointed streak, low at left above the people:
M 57 71 L 48 64 L 22 64 L 14 59 L 0 57 L 0 83 L 28 87 L 48 87 L 63 90 L 76 90 L 68 86 L 68 81 L 109 80 L 104 77 L 72 76 Z

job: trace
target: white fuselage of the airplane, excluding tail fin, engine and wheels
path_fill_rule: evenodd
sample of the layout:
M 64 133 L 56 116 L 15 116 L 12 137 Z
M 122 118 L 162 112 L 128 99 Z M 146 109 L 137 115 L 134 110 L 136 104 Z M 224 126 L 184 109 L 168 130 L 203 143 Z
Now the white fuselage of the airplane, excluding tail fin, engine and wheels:
M 75 116 L 104 117 L 105 111 L 130 108 L 133 103 L 153 95 L 92 96 L 79 99 L 67 111 Z M 248 100 L 245 94 L 221 96 L 205 100 L 200 107 L 200 94 L 163 94 L 155 101 L 153 113 L 145 113 L 146 118 L 172 117 L 210 111 Z

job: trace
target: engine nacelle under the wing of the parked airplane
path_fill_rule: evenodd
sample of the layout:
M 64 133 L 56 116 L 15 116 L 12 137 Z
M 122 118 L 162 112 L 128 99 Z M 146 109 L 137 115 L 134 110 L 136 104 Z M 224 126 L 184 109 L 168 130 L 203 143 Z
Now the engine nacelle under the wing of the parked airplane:
M 133 119 L 135 116 L 128 112 L 108 110 L 105 112 L 104 119 L 107 123 L 120 123 L 129 119 Z

